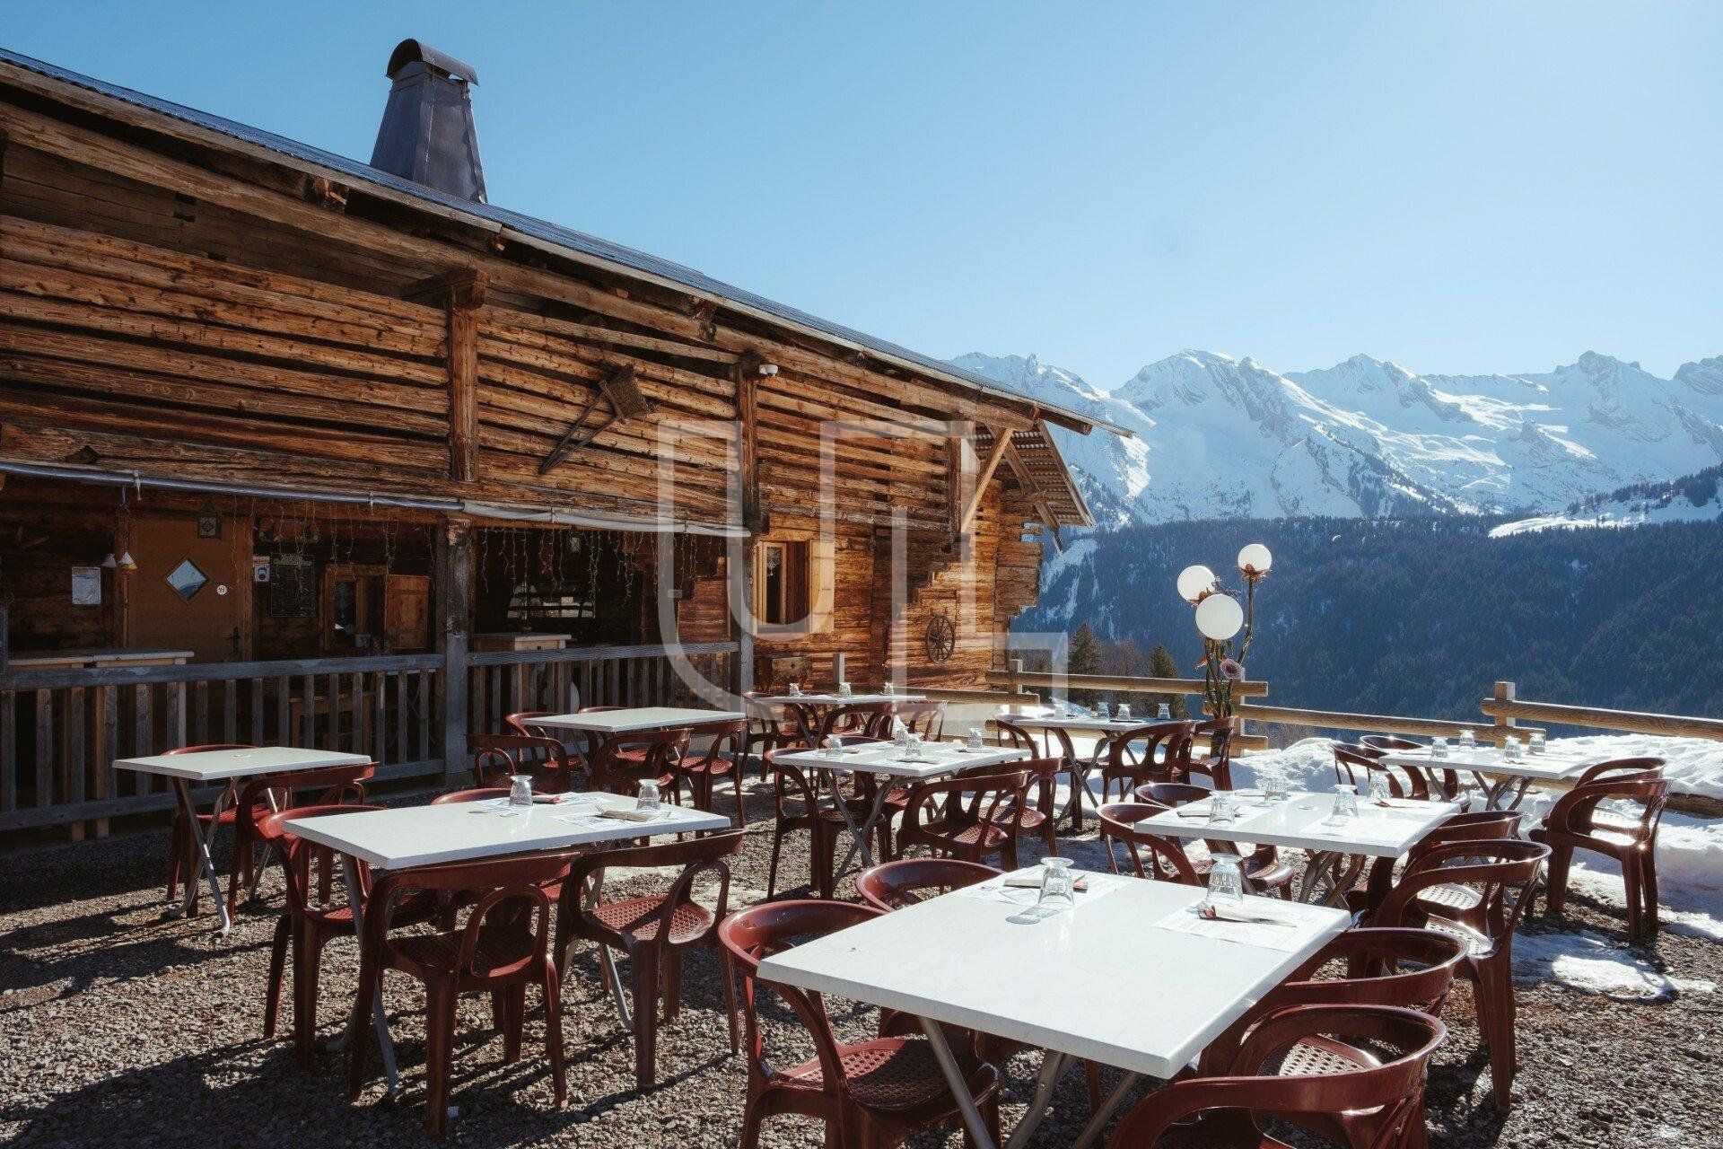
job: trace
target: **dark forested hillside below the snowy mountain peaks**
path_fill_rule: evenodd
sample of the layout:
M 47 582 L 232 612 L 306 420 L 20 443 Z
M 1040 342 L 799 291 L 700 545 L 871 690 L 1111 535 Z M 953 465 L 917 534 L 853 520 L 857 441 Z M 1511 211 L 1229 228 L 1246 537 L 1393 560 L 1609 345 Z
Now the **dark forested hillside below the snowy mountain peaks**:
M 1282 705 L 1478 717 L 1496 679 L 1540 701 L 1723 715 L 1723 525 L 1489 537 L 1497 519 L 1173 522 L 1077 539 L 1015 630 L 1201 656 L 1173 577 L 1266 543 L 1249 675 Z M 1237 582 L 1234 574 L 1232 582 Z

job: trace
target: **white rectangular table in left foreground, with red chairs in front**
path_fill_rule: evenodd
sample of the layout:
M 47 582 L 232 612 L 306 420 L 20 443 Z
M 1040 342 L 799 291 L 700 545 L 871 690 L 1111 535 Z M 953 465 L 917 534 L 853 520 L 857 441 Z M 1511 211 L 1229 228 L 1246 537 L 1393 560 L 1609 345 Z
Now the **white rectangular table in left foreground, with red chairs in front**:
M 596 817 L 600 810 L 632 808 L 632 798 L 591 792 L 563 794 L 558 803 L 534 803 L 524 810 L 500 799 L 355 810 L 353 813 L 331 813 L 317 818 L 288 818 L 286 829 L 307 842 L 327 846 L 339 854 L 341 884 L 346 889 L 346 903 L 353 908 L 353 930 L 357 937 L 364 937 L 365 899 L 360 892 L 355 861 L 364 861 L 374 870 L 405 870 L 439 861 L 476 861 L 662 834 L 731 829 L 731 820 L 722 815 L 669 803 L 663 806 L 663 817 L 655 822 Z M 610 965 L 613 960 L 603 946 L 600 946 L 600 960 L 610 968 L 612 994 L 619 1009 L 627 1016 L 620 996 L 622 980 L 615 977 L 615 966 Z M 389 1092 L 395 1094 L 400 1089 L 400 1073 L 395 1065 L 389 1020 L 383 1011 L 381 987 L 377 1001 L 372 1004 L 372 1025 L 383 1049 L 383 1071 Z M 350 1027 L 345 1040 L 355 1039 Z

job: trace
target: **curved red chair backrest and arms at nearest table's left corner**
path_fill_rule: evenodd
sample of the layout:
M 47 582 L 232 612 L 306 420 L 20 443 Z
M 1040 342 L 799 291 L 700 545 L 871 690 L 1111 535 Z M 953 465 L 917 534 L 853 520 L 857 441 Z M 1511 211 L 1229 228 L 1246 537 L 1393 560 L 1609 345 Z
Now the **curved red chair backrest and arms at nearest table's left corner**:
M 737 910 L 718 923 L 718 942 L 731 954 L 736 968 L 743 975 L 743 1018 L 748 1023 L 748 1075 L 755 1082 L 774 1077 L 772 1066 L 765 1059 L 765 1039 L 760 1032 L 760 1016 L 755 1003 L 756 987 L 768 985 L 789 1008 L 796 1011 L 808 1035 L 813 1039 L 815 1056 L 820 1061 L 820 1089 L 825 1094 L 837 1094 L 844 1087 L 844 1066 L 837 1056 L 837 1039 L 832 1035 L 830 1018 L 820 994 L 760 982 L 760 961 L 770 954 L 789 949 L 796 941 L 812 941 L 837 930 L 849 929 L 879 916 L 882 911 L 872 906 L 856 906 L 844 901 L 770 901 L 748 910 Z

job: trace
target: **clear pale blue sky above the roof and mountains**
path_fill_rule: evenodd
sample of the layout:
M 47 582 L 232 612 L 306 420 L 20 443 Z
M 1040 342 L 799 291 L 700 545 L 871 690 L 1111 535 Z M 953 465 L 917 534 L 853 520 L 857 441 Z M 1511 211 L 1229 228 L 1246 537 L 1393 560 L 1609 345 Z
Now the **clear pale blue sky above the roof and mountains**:
M 1720 3 L 129 3 L 0 43 L 369 158 L 403 36 L 491 200 L 934 355 L 1723 353 Z

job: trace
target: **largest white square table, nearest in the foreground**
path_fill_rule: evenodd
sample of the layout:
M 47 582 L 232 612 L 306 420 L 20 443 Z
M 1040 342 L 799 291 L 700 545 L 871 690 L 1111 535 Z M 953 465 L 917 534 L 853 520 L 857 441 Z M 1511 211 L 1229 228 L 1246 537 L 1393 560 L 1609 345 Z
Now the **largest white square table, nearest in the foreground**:
M 1173 882 L 1118 880 L 1077 908 L 1029 920 L 1022 906 L 953 891 L 774 954 L 758 977 L 820 994 L 901 1009 L 922 1020 L 977 1146 L 992 1140 L 939 1023 L 1048 1051 L 1036 1099 L 1013 1132 L 1023 1144 L 1072 1059 L 1101 1061 L 1127 1078 L 1091 1120 L 1092 1140 L 1141 1075 L 1170 1078 L 1237 1022 L 1351 918 L 1340 910 L 1289 906 L 1296 930 L 1258 946 L 1163 929 L 1203 899 Z M 1278 904 L 1278 903 L 1277 903 Z M 1080 970 L 1082 977 L 1072 977 Z M 1153 970 L 1156 992 L 1108 997 L 1098 985 L 1132 985 Z

